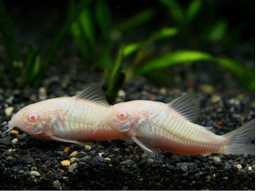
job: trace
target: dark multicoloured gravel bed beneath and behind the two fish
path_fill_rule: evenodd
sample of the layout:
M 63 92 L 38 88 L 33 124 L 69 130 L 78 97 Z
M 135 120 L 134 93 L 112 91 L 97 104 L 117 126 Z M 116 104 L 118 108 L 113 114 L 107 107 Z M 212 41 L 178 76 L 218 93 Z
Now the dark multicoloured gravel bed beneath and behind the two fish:
M 2 134 L 12 117 L 7 117 L 7 108 L 12 107 L 14 114 L 40 99 L 73 96 L 85 84 L 105 82 L 101 72 L 78 71 L 82 70 L 77 66 L 72 66 L 68 74 L 54 68 L 49 77 L 33 88 L 18 89 L 9 84 L 0 87 L 1 189 L 255 189 L 254 156 L 164 153 L 159 161 L 147 157 L 136 144 L 123 140 L 90 142 L 87 145 L 91 147 L 82 147 L 33 138 L 18 129 L 18 136 Z M 181 76 L 180 71 L 183 80 L 173 80 L 168 88 L 141 79 L 128 82 L 117 101 L 168 102 L 183 92 L 194 92 L 202 110 L 198 124 L 213 126 L 219 135 L 254 118 L 254 96 L 228 74 L 221 74 L 222 84 L 205 83 L 199 76 L 208 74 L 211 79 L 211 74 L 188 65 L 173 70 L 171 79 Z M 191 73 L 187 75 L 186 71 Z M 65 153 L 67 146 L 70 149 Z M 74 151 L 78 153 L 71 159 Z M 65 159 L 71 160 L 69 167 L 61 165 Z

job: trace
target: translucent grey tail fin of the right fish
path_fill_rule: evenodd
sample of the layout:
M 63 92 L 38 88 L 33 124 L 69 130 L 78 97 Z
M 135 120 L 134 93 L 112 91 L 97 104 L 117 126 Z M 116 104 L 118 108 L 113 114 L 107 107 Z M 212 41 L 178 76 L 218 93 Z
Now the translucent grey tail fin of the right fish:
M 242 127 L 223 135 L 228 139 L 224 148 L 224 154 L 255 155 L 255 144 L 251 140 L 255 138 L 255 119 L 245 123 Z

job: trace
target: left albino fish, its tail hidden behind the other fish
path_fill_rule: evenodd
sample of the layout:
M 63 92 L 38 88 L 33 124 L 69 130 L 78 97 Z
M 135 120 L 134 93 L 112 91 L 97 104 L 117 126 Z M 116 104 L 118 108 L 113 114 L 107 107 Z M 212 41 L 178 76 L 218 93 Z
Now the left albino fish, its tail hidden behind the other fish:
M 77 96 L 52 98 L 26 106 L 12 117 L 8 131 L 18 127 L 36 138 L 73 143 L 122 138 L 101 122 L 108 109 L 103 91 L 90 86 Z

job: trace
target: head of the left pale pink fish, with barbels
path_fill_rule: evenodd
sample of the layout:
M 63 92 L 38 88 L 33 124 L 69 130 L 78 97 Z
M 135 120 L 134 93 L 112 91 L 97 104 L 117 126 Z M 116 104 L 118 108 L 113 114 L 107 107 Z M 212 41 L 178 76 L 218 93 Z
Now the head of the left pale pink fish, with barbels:
M 51 105 L 51 101 L 45 100 L 22 108 L 9 121 L 8 131 L 17 127 L 34 137 L 48 139 L 47 131 L 50 126 L 50 116 L 55 112 Z

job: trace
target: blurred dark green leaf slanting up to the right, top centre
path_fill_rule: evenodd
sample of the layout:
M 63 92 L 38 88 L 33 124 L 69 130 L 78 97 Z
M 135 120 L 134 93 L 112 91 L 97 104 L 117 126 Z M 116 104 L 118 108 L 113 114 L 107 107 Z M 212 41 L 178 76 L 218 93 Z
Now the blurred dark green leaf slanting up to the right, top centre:
M 138 14 L 131 16 L 127 20 L 123 21 L 121 24 L 119 24 L 116 29 L 118 31 L 124 32 L 128 31 L 130 29 L 133 29 L 149 20 L 154 16 L 155 10 L 149 9 L 145 11 L 141 11 Z

